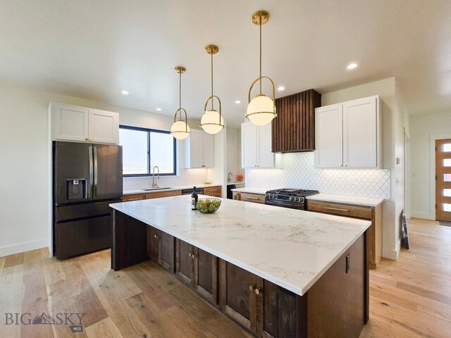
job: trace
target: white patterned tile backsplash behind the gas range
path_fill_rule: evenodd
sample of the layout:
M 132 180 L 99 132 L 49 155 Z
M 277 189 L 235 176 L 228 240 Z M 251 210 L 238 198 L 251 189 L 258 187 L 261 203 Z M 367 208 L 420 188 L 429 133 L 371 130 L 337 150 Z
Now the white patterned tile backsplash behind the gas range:
M 246 187 L 315 189 L 325 194 L 390 199 L 388 169 L 316 169 L 314 152 L 283 154 L 283 169 L 246 169 Z

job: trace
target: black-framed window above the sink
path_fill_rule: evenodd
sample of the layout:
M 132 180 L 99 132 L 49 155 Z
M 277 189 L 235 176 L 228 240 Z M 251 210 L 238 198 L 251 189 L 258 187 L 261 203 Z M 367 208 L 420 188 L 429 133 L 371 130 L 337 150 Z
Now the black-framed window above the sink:
M 124 176 L 152 175 L 154 166 L 160 175 L 175 175 L 175 138 L 170 132 L 121 125 L 119 144 L 123 146 Z

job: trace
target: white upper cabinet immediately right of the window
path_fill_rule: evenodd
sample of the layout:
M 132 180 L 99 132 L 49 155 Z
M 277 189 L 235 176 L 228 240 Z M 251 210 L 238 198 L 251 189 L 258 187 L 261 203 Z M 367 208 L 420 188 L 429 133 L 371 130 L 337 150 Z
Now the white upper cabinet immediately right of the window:
M 214 167 L 214 135 L 192 129 L 185 139 L 185 168 Z

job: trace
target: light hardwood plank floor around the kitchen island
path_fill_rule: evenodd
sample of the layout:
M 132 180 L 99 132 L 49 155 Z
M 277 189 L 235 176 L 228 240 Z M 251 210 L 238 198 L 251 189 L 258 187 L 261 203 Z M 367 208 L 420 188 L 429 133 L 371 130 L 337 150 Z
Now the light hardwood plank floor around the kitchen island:
M 409 231 L 411 249 L 370 272 L 362 338 L 451 337 L 451 227 L 412 218 Z M 86 313 L 85 330 L 5 325 L 5 313 L 42 312 Z M 0 316 L 8 338 L 250 337 L 151 261 L 114 272 L 108 250 L 66 261 L 47 249 L 1 257 Z

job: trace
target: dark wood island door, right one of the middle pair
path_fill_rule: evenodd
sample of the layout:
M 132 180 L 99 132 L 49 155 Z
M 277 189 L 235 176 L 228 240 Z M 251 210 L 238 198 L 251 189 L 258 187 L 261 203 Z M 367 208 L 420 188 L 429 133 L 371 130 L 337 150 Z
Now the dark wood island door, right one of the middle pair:
M 202 249 L 194 250 L 194 287 L 211 303 L 218 303 L 218 258 Z

